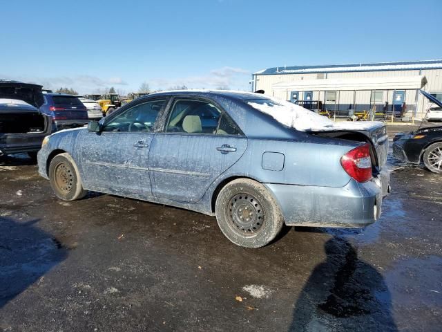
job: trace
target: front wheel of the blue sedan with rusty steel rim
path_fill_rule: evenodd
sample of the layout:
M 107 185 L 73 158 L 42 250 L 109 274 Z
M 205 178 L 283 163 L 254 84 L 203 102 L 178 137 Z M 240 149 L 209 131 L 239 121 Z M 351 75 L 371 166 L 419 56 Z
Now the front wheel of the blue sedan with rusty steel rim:
M 55 195 L 63 201 L 82 199 L 88 193 L 81 185 L 77 165 L 69 154 L 58 154 L 49 165 L 49 181 Z

